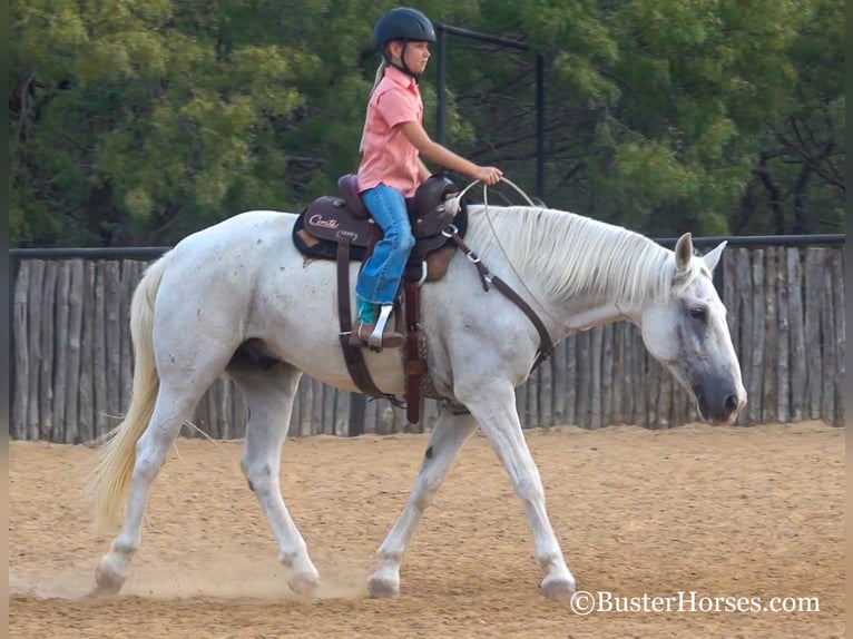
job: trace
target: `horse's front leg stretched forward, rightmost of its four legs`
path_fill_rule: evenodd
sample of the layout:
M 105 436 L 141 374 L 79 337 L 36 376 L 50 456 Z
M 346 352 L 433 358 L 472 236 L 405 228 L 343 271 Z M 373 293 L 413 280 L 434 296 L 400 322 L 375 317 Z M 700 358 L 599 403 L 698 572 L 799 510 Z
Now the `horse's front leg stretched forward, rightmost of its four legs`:
M 498 453 L 516 494 L 524 505 L 524 515 L 533 535 L 536 559 L 545 574 L 542 593 L 559 601 L 570 600 L 575 594 L 575 578 L 566 566 L 548 519 L 542 480 L 521 431 L 512 385 L 509 382 L 496 382 L 488 390 L 481 389 L 477 396 L 467 397 L 464 404 Z

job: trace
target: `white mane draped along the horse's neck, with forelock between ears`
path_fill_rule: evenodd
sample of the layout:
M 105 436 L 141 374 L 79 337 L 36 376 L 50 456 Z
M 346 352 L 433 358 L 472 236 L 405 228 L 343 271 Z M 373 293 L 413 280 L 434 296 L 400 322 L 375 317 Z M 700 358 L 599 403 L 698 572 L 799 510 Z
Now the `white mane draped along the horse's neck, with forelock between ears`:
M 654 240 L 596 219 L 530 206 L 469 205 L 465 243 L 489 264 L 502 255 L 523 279 L 547 295 L 599 295 L 643 303 L 666 296 L 674 285 L 673 252 Z M 699 273 L 693 260 L 686 286 Z

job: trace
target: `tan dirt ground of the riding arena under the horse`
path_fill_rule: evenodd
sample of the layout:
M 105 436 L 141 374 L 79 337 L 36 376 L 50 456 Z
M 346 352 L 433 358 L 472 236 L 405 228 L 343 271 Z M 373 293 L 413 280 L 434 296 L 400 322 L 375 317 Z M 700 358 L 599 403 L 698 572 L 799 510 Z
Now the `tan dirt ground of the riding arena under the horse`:
M 844 432 L 821 423 L 531 431 L 578 588 L 617 598 L 817 598 L 820 612 L 572 612 L 543 599 L 520 503 L 487 441 L 463 449 L 402 569 L 366 597 L 423 435 L 291 440 L 282 484 L 323 583 L 287 591 L 241 442 L 180 440 L 117 598 L 90 600 L 111 535 L 81 494 L 95 451 L 10 446 L 13 638 L 843 637 Z M 689 596 L 686 596 L 689 597 Z M 709 600 L 706 600 L 709 601 Z M 707 604 L 707 603 L 706 603 Z M 689 606 L 689 603 L 687 603 Z

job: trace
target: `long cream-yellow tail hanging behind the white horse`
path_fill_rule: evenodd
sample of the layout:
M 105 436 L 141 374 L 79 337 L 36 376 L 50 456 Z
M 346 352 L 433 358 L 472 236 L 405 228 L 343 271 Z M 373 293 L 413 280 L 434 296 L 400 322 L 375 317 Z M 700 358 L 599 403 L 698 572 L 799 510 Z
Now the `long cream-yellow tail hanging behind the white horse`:
M 167 256 L 147 268 L 130 303 L 130 337 L 134 344 L 134 387 L 124 421 L 106 436 L 98 463 L 89 478 L 97 525 L 112 524 L 127 498 L 136 463 L 136 442 L 154 413 L 160 380 L 154 361 L 151 331 L 154 303 L 166 271 Z

